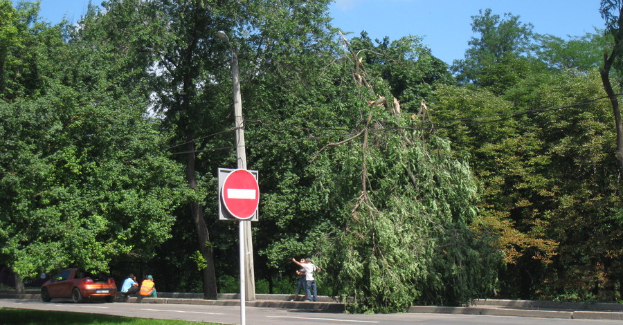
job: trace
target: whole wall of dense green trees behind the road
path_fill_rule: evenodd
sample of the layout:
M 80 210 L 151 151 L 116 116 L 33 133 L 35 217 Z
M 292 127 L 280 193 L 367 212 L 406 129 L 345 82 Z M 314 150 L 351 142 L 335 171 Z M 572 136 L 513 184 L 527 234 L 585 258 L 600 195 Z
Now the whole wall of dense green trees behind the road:
M 357 313 L 623 299 L 620 3 L 568 40 L 481 10 L 453 66 L 419 37 L 348 39 L 328 3 L 110 0 L 51 26 L 0 0 L 0 263 L 134 259 L 168 290 L 235 287 L 215 179 L 235 167 L 235 54 L 258 290 L 313 257 Z

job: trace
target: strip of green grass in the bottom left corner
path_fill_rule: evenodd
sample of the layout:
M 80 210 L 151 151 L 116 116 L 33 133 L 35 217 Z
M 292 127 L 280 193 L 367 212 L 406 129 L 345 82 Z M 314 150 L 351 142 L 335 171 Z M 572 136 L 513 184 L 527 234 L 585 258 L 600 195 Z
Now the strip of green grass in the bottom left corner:
M 0 308 L 1 324 L 98 324 L 98 325 L 183 325 L 183 324 L 203 324 L 218 325 L 217 323 L 188 322 L 183 320 L 170 319 L 148 319 L 134 318 L 111 315 L 97 315 L 87 313 L 66 313 L 51 310 L 31 310 L 31 309 L 12 309 Z

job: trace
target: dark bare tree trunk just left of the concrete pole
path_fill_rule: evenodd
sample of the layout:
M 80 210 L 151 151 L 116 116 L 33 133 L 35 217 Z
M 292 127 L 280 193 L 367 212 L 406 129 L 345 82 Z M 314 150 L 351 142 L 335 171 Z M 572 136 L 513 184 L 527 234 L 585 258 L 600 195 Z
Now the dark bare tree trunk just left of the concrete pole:
M 195 142 L 188 137 L 188 162 L 186 165 L 186 179 L 192 189 L 197 189 L 197 176 L 195 175 Z M 199 252 L 208 262 L 204 268 L 204 299 L 217 299 L 216 273 L 214 269 L 214 257 L 212 245 L 210 245 L 210 234 L 204 219 L 204 207 L 196 201 L 190 202 L 190 214 L 192 222 L 195 223 L 197 239 L 199 239 Z

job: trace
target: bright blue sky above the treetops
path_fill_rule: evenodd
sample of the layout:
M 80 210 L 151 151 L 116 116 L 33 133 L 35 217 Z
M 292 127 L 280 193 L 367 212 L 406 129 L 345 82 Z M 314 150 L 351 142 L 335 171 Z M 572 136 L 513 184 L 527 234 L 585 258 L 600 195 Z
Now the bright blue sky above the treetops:
M 14 0 L 14 2 L 17 2 Z M 101 0 L 92 0 L 100 5 Z M 473 37 L 471 16 L 491 8 L 496 15 L 510 12 L 534 31 L 566 38 L 603 28 L 599 0 L 336 0 L 329 6 L 333 26 L 359 36 L 365 30 L 372 39 L 423 37 L 433 55 L 451 64 L 462 59 Z M 66 17 L 78 21 L 89 0 L 41 0 L 40 16 L 56 23 Z

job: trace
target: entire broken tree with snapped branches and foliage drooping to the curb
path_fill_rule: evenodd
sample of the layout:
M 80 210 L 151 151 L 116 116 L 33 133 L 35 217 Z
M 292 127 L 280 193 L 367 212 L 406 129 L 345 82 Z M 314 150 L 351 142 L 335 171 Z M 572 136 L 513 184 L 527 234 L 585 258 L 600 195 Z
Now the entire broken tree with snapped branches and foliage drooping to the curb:
M 345 98 L 352 118 L 343 122 L 353 131 L 320 148 L 312 164 L 313 187 L 329 197 L 334 216 L 312 228 L 332 274 L 324 281 L 333 295 L 354 299 L 348 308 L 356 312 L 467 304 L 492 291 L 500 257 L 469 229 L 476 186 L 466 160 L 383 100 L 386 82 L 352 80 L 364 71 L 352 62 L 364 60 L 345 46 L 341 73 L 355 88 Z

